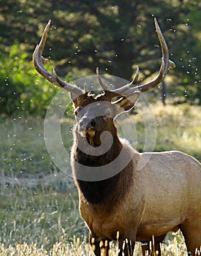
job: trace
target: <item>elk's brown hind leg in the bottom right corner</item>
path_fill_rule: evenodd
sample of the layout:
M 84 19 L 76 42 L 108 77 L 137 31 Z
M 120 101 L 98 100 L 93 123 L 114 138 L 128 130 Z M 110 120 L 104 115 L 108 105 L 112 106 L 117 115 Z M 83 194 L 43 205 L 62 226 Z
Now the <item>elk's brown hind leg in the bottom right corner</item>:
M 180 229 L 183 233 L 189 255 L 198 255 L 196 254 L 196 249 L 200 250 L 201 248 L 201 219 L 183 222 Z

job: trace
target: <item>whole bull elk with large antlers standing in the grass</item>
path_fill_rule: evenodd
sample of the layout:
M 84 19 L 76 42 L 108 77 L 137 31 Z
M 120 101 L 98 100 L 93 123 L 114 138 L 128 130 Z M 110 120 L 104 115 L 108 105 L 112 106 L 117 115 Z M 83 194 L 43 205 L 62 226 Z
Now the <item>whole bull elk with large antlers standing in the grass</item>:
M 101 94 L 60 80 L 55 70 L 52 75 L 45 69 L 42 57 L 50 22 L 34 51 L 37 71 L 51 83 L 70 91 L 74 103 L 77 122 L 72 171 L 80 214 L 90 230 L 96 256 L 109 255 L 109 242 L 113 240 L 118 240 L 119 255 L 132 255 L 135 241 L 142 241 L 145 255 L 145 250 L 149 250 L 145 243 L 153 236 L 153 251 L 161 255 L 159 244 L 167 232 L 178 229 L 192 255 L 201 246 L 200 162 L 179 151 L 140 154 L 119 138 L 114 124 L 115 116 L 132 109 L 140 93 L 157 86 L 168 67 L 174 67 L 156 20 L 155 25 L 162 46 L 162 64 L 156 78 L 141 86 L 133 86 L 137 83 L 138 68 L 132 83 L 112 91 L 102 82 L 97 69 Z M 105 151 L 108 142 L 111 145 Z M 139 163 L 144 165 L 139 167 Z

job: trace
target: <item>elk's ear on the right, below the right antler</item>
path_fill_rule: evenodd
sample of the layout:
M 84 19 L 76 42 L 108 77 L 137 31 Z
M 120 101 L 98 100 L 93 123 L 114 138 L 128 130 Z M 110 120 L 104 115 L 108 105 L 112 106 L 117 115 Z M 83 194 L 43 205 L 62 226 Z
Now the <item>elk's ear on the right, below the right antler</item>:
M 121 107 L 120 108 L 121 110 L 120 111 L 118 110 L 118 112 L 129 111 L 136 105 L 139 97 L 140 97 L 140 91 L 135 91 L 132 95 L 128 97 L 120 97 L 113 103 Z M 122 108 L 124 110 L 122 110 Z

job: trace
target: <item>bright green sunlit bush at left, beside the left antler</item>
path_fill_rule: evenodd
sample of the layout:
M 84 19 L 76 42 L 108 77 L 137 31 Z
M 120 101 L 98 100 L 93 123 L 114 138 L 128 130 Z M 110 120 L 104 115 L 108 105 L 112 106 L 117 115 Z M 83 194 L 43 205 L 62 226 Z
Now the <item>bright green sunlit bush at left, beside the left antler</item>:
M 0 69 L 1 113 L 45 116 L 48 105 L 59 91 L 57 86 L 50 86 L 34 70 L 32 61 L 27 60 L 27 56 L 22 45 L 17 43 L 6 48 L 4 53 L 0 51 L 0 65 L 4 67 Z

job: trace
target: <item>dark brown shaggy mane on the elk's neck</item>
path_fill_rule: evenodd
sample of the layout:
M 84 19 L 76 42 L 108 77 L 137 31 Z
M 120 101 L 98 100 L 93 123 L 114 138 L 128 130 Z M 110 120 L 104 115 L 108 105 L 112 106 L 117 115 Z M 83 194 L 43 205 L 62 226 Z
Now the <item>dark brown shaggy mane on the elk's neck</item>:
M 78 189 L 80 189 L 80 192 L 83 193 L 83 196 L 86 198 L 88 203 L 115 203 L 118 200 L 123 200 L 126 191 L 129 189 L 129 181 L 132 179 L 132 174 L 130 173 L 130 170 L 132 170 L 131 167 L 126 167 L 115 176 L 101 181 L 81 181 L 77 179 L 77 173 L 82 172 L 82 170 L 80 170 L 79 165 L 76 167 L 76 162 L 90 167 L 103 166 L 103 170 L 105 171 L 104 165 L 109 164 L 118 157 L 123 145 L 118 138 L 117 132 L 115 132 L 115 136 L 113 137 L 113 145 L 101 156 L 91 156 L 83 153 L 83 151 L 80 151 L 79 149 L 79 143 L 80 138 L 77 140 L 77 145 L 74 145 L 73 154 L 75 162 L 72 167 L 75 183 Z M 129 163 L 129 165 L 132 165 L 132 163 Z

